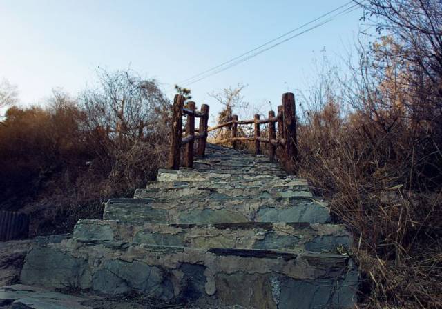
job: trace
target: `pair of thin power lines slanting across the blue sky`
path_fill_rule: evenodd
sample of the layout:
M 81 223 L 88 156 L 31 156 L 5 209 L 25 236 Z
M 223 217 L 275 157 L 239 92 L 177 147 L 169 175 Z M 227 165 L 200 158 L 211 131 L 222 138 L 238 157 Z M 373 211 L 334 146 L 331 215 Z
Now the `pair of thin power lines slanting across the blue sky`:
M 364 0 L 364 1 L 365 1 L 365 0 Z M 350 1 L 350 3 L 352 3 L 352 1 Z M 330 12 L 336 12 L 336 10 L 339 10 L 340 8 L 343 8 L 343 7 L 347 6 L 347 5 L 348 5 L 348 3 L 346 3 L 346 4 L 343 5 L 343 6 L 340 6 L 339 8 L 337 8 L 337 9 L 335 9 L 335 10 L 332 10 L 332 11 L 330 11 Z M 258 48 L 254 48 L 253 50 L 251 50 L 251 51 L 249 51 L 249 52 L 247 52 L 247 53 L 242 54 L 242 56 L 235 57 L 235 58 L 231 59 L 231 61 L 227 61 L 227 62 L 223 63 L 223 64 L 220 65 L 220 66 L 216 66 L 216 67 L 212 68 L 211 70 L 206 70 L 206 71 L 204 71 L 204 72 L 202 72 L 202 73 L 200 73 L 200 74 L 195 75 L 195 77 L 200 77 L 200 76 L 204 75 L 204 76 L 202 76 L 202 77 L 200 77 L 200 78 L 198 78 L 198 79 L 195 79 L 195 80 L 193 80 L 193 81 L 192 81 L 192 79 L 194 79 L 194 78 L 186 79 L 186 81 L 189 81 L 189 83 L 186 83 L 184 86 L 189 86 L 189 85 L 191 85 L 191 84 L 193 84 L 193 83 L 196 83 L 196 82 L 198 82 L 198 81 L 201 81 L 202 79 L 206 79 L 206 78 L 211 77 L 211 76 L 213 76 L 213 75 L 215 75 L 215 74 L 218 74 L 218 73 L 220 73 L 220 72 L 223 72 L 224 70 L 227 70 L 227 69 L 229 69 L 229 68 L 232 68 L 233 66 L 237 66 L 238 64 L 240 64 L 240 63 L 242 63 L 242 62 L 244 62 L 244 61 L 247 61 L 247 60 L 249 60 L 249 59 L 251 59 L 251 58 L 253 58 L 253 57 L 258 56 L 258 54 L 262 54 L 262 52 L 266 52 L 267 50 L 270 50 L 271 48 L 275 48 L 276 46 L 279 46 L 279 45 L 282 44 L 282 43 L 285 43 L 285 42 L 287 42 L 287 41 L 289 41 L 289 40 L 291 40 L 291 39 L 294 39 L 295 37 L 299 37 L 301 34 L 305 34 L 306 32 L 309 32 L 309 31 L 311 31 L 311 30 L 314 30 L 314 29 L 316 29 L 316 28 L 318 28 L 318 27 L 320 27 L 320 26 L 323 26 L 325 23 L 329 23 L 330 21 L 333 21 L 334 18 L 336 18 L 336 17 L 338 17 L 338 16 L 340 16 L 340 15 L 343 15 L 343 14 L 349 14 L 350 12 L 353 12 L 354 10 L 357 10 L 357 9 L 359 8 L 359 6 L 360 6 L 360 5 L 359 5 L 358 3 L 354 4 L 353 6 L 349 6 L 348 8 L 345 8 L 345 10 L 343 10 L 343 11 L 341 11 L 341 12 L 338 12 L 337 14 L 334 14 L 332 17 L 329 17 L 329 18 L 326 19 L 325 21 L 321 21 L 320 23 L 317 23 L 316 25 L 311 26 L 310 28 L 307 28 L 306 30 L 303 30 L 302 32 L 298 32 L 297 34 L 294 34 L 294 35 L 292 35 L 291 37 L 288 37 L 288 38 L 286 38 L 286 39 L 284 39 L 284 40 L 282 40 L 282 41 L 279 41 L 278 43 L 275 43 L 275 44 L 273 44 L 273 45 L 271 45 L 271 46 L 269 46 L 269 47 L 267 47 L 267 48 L 264 48 L 264 49 L 262 49 L 262 50 L 258 50 L 258 49 L 262 48 L 263 46 L 267 46 L 267 45 L 269 44 L 269 42 L 273 42 L 273 41 L 276 41 L 276 40 L 278 40 L 278 39 L 273 39 L 273 40 L 271 40 L 271 41 L 269 41 L 269 42 L 267 42 L 267 43 L 265 43 L 265 44 L 262 44 L 262 46 L 260 46 L 260 47 L 258 47 Z M 326 13 L 326 14 L 322 15 L 322 17 L 326 16 L 327 14 L 329 14 L 329 13 Z M 320 19 L 320 17 L 318 17 L 317 19 L 314 19 L 314 21 L 317 21 L 318 19 Z M 309 22 L 309 23 L 312 23 L 312 22 L 313 22 L 313 21 L 311 21 L 311 22 Z M 309 24 L 309 23 L 307 23 L 307 24 Z M 302 26 L 299 27 L 299 28 L 302 28 Z M 291 31 L 290 33 L 292 33 L 292 32 L 293 32 L 293 31 Z M 289 32 L 287 32 L 287 33 L 289 33 Z M 280 36 L 280 37 L 278 37 L 278 38 L 280 39 L 280 38 L 282 38 L 282 37 L 285 37 L 286 35 L 287 35 L 287 34 L 282 35 L 282 36 Z M 253 54 L 250 54 L 251 52 L 253 52 L 253 51 L 255 51 L 255 50 L 258 50 L 258 52 L 255 52 L 255 53 L 253 53 Z M 248 54 L 249 54 L 249 55 L 248 55 Z M 244 55 L 248 55 L 248 56 L 247 56 L 247 57 L 243 57 Z M 234 60 L 237 60 L 237 61 L 231 63 L 231 62 L 234 61 Z M 228 64 L 228 63 L 230 63 L 229 66 L 225 66 L 225 65 Z M 215 69 L 217 69 L 217 68 L 218 68 L 218 70 L 215 70 Z M 212 72 L 213 70 L 215 70 L 215 72 Z M 210 73 L 209 73 L 209 72 L 210 72 Z M 205 74 L 205 73 L 209 73 L 209 74 Z

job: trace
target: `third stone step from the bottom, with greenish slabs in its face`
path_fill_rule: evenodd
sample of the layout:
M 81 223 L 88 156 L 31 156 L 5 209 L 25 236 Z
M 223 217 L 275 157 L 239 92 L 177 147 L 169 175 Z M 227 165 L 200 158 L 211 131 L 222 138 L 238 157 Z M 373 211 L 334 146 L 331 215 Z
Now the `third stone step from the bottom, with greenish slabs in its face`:
M 110 199 L 103 219 L 133 223 L 214 224 L 242 222 L 327 223 L 327 203 L 313 198 Z

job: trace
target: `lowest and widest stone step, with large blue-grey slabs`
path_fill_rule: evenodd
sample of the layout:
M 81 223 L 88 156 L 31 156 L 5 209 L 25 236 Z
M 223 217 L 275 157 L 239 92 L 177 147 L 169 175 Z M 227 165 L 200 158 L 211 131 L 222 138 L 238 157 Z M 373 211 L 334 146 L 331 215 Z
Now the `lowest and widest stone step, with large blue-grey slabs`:
M 345 255 L 182 248 L 39 237 L 21 283 L 119 295 L 141 293 L 199 308 L 353 308 L 358 273 Z

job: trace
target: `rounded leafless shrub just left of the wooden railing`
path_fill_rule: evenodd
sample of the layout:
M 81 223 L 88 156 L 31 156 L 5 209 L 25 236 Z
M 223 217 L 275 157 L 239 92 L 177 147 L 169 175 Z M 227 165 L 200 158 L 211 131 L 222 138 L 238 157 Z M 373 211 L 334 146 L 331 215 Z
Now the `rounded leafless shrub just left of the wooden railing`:
M 170 102 L 155 80 L 135 72 L 99 70 L 98 77 L 79 98 L 85 131 L 95 143 L 95 166 L 108 172 L 104 190 L 126 194 L 166 159 Z

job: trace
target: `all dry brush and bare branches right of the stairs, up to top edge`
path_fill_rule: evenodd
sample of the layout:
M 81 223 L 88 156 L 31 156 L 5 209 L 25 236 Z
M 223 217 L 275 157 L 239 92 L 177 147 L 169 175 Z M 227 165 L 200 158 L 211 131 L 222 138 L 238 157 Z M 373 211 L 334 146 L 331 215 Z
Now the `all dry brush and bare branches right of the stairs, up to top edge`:
M 325 61 L 297 95 L 298 173 L 353 232 L 359 307 L 442 308 L 442 4 L 369 1 L 365 19 L 380 35 L 350 74 Z

